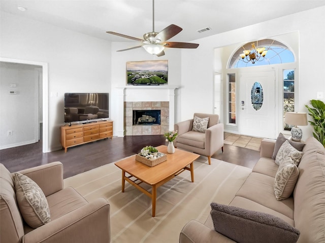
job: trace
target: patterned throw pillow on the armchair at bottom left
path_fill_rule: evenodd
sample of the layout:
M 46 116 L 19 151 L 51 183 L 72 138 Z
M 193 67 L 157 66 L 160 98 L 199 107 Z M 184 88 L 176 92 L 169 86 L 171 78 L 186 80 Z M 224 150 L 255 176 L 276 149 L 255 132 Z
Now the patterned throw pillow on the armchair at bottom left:
M 50 222 L 50 209 L 42 189 L 19 172 L 16 172 L 14 177 L 17 204 L 25 222 L 32 228 Z

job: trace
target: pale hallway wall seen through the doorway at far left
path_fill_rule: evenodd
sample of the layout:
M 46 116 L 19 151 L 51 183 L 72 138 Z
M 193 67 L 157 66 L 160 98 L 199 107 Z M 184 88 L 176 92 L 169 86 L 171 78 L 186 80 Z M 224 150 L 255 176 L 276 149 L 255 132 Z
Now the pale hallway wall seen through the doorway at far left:
M 39 124 L 36 66 L 1 62 L 0 69 L 0 149 L 35 143 Z

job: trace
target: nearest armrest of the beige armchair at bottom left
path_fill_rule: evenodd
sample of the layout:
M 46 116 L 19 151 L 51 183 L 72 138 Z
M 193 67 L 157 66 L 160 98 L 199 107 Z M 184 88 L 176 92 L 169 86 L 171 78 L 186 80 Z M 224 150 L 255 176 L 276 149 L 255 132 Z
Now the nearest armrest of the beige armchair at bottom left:
M 98 198 L 23 236 L 23 242 L 110 242 L 110 205 Z

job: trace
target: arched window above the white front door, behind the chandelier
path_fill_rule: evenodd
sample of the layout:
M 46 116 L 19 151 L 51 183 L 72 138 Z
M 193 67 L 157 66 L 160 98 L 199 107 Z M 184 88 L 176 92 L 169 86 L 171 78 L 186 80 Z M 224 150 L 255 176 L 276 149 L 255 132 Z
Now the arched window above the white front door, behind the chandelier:
M 254 64 L 252 62 L 244 62 L 239 56 L 244 50 L 250 50 L 252 43 L 255 44 L 256 48 L 264 47 L 268 51 L 262 61 L 256 61 Z M 295 57 L 287 46 L 274 39 L 262 39 L 261 41 L 249 42 L 240 47 L 232 56 L 229 68 L 253 67 L 288 62 L 295 62 Z

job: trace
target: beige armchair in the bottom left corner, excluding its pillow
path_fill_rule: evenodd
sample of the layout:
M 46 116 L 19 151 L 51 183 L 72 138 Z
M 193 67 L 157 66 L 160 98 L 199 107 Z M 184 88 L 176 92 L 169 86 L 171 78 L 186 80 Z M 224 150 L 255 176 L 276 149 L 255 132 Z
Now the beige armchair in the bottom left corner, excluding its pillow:
M 28 226 L 17 206 L 14 174 L 0 164 L 0 242 L 110 242 L 109 204 L 104 198 L 88 203 L 74 188 L 63 189 L 60 162 L 20 173 L 44 192 L 50 222 L 37 228 Z

